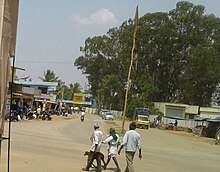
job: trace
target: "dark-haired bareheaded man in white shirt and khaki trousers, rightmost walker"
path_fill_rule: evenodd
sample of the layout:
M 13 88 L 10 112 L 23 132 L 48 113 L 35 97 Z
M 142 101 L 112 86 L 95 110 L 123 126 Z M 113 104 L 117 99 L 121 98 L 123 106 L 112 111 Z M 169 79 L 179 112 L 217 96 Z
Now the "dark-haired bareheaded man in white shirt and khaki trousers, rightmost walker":
M 129 131 L 126 131 L 121 143 L 121 147 L 118 151 L 118 154 L 120 155 L 121 149 L 125 147 L 127 162 L 125 172 L 134 172 L 133 159 L 136 151 L 139 151 L 139 158 L 142 158 L 140 135 L 135 131 L 135 129 L 135 122 L 131 122 L 129 124 Z

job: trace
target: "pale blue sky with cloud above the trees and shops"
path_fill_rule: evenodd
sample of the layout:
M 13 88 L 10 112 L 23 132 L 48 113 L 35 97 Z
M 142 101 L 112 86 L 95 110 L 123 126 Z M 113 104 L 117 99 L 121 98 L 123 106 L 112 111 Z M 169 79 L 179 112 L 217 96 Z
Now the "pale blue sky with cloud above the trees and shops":
M 79 83 L 86 89 L 85 75 L 73 65 L 88 37 L 105 35 L 146 13 L 168 12 L 178 0 L 20 0 L 17 28 L 16 67 L 19 78 L 41 81 L 47 69 L 66 85 Z M 190 0 L 206 7 L 207 14 L 220 17 L 220 0 Z

